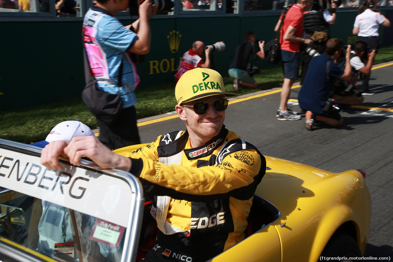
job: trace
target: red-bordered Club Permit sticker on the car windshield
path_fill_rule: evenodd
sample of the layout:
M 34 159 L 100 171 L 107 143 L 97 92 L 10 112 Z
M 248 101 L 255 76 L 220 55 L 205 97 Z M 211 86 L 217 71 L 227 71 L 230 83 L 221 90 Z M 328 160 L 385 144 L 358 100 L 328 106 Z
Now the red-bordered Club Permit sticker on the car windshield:
M 92 234 L 90 235 L 90 240 L 111 247 L 118 247 L 124 230 L 125 227 L 97 218 Z

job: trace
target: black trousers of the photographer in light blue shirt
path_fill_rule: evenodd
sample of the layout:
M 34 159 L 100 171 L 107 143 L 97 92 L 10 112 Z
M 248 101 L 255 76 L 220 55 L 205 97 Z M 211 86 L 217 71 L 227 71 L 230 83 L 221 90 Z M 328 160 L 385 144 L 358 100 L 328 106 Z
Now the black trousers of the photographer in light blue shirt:
M 107 125 L 97 118 L 100 127 L 99 140 L 111 150 L 140 144 L 136 120 L 134 106 L 121 109 L 118 119 L 112 125 Z

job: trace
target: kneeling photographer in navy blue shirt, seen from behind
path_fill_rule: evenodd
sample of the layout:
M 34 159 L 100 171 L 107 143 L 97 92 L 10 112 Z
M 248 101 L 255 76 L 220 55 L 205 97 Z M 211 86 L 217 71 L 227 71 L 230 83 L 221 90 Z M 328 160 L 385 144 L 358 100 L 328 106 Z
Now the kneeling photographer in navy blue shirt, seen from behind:
M 309 70 L 298 95 L 299 106 L 307 111 L 305 127 L 310 131 L 314 130 L 316 121 L 333 127 L 340 127 L 343 123 L 340 110 L 332 99 L 332 80 L 338 78 L 349 81 L 351 78 L 350 63 L 345 63 L 345 68 L 342 70 L 333 62 L 340 56 L 342 49 L 341 39 L 329 39 L 325 52 L 310 61 Z M 350 53 L 351 46 L 348 45 L 345 53 L 347 61 L 350 59 Z

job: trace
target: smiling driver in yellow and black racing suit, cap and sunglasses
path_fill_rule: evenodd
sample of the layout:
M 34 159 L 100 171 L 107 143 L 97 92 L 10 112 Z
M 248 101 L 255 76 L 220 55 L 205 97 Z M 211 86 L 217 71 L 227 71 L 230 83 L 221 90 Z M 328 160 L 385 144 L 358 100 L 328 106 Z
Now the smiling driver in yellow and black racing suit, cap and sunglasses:
M 243 240 L 255 188 L 266 170 L 258 149 L 223 124 L 225 97 L 234 94 L 225 92 L 220 74 L 189 70 L 175 93 L 175 109 L 187 131 L 159 136 L 121 155 L 86 137 L 52 143 L 41 155 L 51 169 L 61 169 L 53 155 L 64 151 L 72 164 L 89 157 L 102 168 L 140 179 L 145 196 L 155 199 L 152 214 L 160 229 L 144 261 L 206 261 Z

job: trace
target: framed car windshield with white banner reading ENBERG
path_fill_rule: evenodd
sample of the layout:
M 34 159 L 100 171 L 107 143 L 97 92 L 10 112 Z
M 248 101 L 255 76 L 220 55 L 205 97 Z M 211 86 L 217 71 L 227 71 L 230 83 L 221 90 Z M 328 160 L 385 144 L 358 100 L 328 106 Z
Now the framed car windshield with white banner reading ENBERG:
M 16 261 L 26 254 L 40 261 L 134 261 L 144 202 L 139 181 L 88 161 L 61 161 L 63 171 L 50 170 L 39 153 L 0 140 L 0 254 L 7 250 Z

